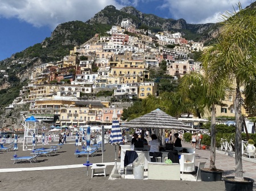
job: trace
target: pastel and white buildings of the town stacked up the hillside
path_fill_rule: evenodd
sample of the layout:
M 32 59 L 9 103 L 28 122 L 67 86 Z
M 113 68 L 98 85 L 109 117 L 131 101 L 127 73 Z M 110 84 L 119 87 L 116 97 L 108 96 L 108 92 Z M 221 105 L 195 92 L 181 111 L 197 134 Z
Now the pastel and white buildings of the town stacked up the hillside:
M 175 46 L 166 48 L 168 45 Z M 35 116 L 46 125 L 101 126 L 111 124 L 115 109 L 122 122 L 123 108 L 129 107 L 131 100 L 159 95 L 149 69 L 158 69 L 159 63 L 166 61 L 166 74 L 174 79 L 190 71 L 200 73 L 200 62 L 190 59 L 189 53 L 204 48 L 203 43 L 188 41 L 179 32 L 151 33 L 123 19 L 121 26 L 112 26 L 105 36 L 95 34 L 60 61 L 35 67 L 30 83 L 5 113 L 15 105 L 29 103 L 29 110 L 21 113 L 24 118 Z M 104 91 L 113 95 L 95 96 Z M 216 116 L 234 117 L 233 95 L 222 103 Z

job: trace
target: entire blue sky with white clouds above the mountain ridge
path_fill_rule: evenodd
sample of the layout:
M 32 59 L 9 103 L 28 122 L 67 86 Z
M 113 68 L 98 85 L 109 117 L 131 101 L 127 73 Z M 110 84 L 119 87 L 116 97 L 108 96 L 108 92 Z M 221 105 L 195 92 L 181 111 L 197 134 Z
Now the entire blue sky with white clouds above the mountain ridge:
M 241 0 L 242 7 L 252 0 Z M 187 23 L 216 23 L 238 0 L 0 0 L 0 61 L 51 36 L 55 27 L 86 20 L 108 5 L 137 10 Z M 88 9 L 89 8 L 89 9 Z

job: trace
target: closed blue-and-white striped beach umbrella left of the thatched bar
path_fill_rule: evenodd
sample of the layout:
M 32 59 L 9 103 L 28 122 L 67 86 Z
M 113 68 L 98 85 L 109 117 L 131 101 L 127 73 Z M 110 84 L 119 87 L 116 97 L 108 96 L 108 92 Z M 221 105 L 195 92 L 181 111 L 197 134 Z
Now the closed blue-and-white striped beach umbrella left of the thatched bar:
M 119 121 L 117 120 L 117 113 L 113 112 L 113 121 L 112 121 L 112 129 L 110 133 L 110 143 L 119 143 L 122 142 L 122 133 L 119 125 Z

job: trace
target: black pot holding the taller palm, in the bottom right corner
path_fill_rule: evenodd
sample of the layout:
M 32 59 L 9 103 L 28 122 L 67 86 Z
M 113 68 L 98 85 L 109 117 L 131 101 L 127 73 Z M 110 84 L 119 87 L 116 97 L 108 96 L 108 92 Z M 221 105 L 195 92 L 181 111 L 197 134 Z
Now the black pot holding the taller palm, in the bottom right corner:
M 253 191 L 253 179 L 243 178 L 245 181 L 234 181 L 234 176 L 224 177 L 226 191 Z

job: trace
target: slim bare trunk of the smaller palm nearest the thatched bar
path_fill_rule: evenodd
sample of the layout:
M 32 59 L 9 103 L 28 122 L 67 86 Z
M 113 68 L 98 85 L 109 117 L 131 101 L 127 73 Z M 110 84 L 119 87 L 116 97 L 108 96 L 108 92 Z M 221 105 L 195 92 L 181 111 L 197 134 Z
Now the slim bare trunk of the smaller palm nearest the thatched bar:
M 215 159 L 216 159 L 216 114 L 215 105 L 212 105 L 212 119 L 210 120 L 210 170 L 216 171 Z

